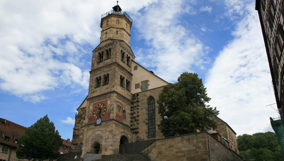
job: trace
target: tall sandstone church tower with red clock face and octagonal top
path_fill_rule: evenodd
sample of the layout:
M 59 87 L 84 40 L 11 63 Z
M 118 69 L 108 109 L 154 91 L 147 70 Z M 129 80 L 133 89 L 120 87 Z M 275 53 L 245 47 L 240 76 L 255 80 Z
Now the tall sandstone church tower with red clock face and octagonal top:
M 117 1 L 118 2 L 118 1 Z M 100 44 L 93 50 L 88 96 L 78 108 L 73 150 L 103 155 L 119 153 L 131 141 L 132 19 L 117 4 L 103 14 Z

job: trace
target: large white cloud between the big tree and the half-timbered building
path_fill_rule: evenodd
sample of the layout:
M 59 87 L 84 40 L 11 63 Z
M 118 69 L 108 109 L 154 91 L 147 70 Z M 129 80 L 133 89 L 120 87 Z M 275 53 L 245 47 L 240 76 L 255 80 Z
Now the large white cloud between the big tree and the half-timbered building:
M 230 9 L 229 9 L 230 10 Z M 210 105 L 220 110 L 220 118 L 238 134 L 269 130 L 269 117 L 277 113 L 264 40 L 254 3 L 239 9 L 245 15 L 216 58 L 206 84 Z

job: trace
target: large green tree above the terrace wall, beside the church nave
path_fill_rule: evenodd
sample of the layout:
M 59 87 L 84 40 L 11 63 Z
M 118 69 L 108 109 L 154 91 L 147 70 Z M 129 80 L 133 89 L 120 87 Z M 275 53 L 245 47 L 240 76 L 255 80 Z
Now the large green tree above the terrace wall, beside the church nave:
M 211 116 L 217 116 L 219 111 L 206 105 L 210 99 L 196 73 L 182 73 L 177 83 L 165 86 L 159 94 L 158 113 L 168 120 L 162 119 L 158 128 L 164 136 L 216 128 Z

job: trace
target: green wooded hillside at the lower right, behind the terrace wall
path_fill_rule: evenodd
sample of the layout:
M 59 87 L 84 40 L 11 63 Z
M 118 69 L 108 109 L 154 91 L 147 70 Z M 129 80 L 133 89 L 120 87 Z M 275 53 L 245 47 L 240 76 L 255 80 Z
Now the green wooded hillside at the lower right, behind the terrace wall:
M 237 137 L 239 155 L 247 161 L 284 161 L 273 132 L 243 134 Z

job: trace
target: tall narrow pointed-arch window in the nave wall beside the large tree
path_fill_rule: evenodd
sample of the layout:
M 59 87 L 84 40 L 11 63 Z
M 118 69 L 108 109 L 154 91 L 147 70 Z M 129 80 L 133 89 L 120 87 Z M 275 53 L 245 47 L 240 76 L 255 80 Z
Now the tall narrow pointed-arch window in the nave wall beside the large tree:
M 155 98 L 148 98 L 148 138 L 156 137 L 156 105 Z

